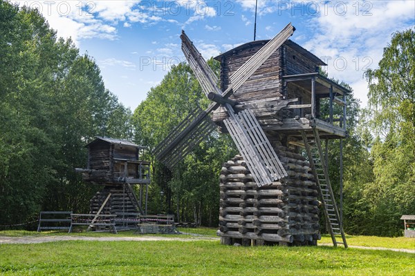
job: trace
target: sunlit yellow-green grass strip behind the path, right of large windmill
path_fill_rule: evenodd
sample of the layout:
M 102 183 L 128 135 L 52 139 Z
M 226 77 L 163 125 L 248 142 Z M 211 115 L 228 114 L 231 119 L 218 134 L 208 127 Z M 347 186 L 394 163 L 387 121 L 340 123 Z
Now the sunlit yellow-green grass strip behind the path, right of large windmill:
M 385 247 L 415 250 L 415 239 L 408 237 L 346 236 L 349 246 Z M 332 244 L 330 235 L 322 235 L 320 244 Z

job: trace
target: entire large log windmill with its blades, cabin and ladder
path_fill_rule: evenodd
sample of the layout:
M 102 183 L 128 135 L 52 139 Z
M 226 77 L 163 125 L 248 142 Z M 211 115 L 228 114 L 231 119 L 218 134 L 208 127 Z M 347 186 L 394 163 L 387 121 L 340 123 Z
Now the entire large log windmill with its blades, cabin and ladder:
M 172 168 L 214 130 L 212 121 L 230 133 L 241 157 L 228 161 L 221 175 L 218 235 L 224 244 L 235 239 L 315 244 L 319 195 L 333 244 L 347 246 L 320 139 L 347 135 L 349 90 L 319 74 L 318 66 L 326 64 L 288 40 L 294 31 L 290 23 L 270 41 L 246 43 L 216 57 L 221 88 L 192 41 L 181 34 L 185 57 L 213 103 L 192 112 L 154 153 Z M 327 119 L 320 118 L 324 98 L 329 99 Z M 343 106 L 337 118 L 333 103 Z

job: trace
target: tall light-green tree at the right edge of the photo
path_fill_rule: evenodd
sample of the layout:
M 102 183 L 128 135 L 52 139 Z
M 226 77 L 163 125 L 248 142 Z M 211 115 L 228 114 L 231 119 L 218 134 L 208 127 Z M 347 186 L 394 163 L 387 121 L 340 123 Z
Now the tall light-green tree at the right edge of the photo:
M 396 32 L 379 68 L 366 72 L 376 135 L 374 183 L 367 187 L 374 233 L 400 235 L 400 215 L 415 213 L 415 31 Z

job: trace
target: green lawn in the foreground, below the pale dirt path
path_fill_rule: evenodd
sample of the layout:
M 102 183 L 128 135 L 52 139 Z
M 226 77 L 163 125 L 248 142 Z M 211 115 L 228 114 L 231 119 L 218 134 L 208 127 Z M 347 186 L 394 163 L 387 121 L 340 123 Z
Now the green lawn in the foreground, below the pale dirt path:
M 1 275 L 414 275 L 415 255 L 218 241 L 1 244 Z

